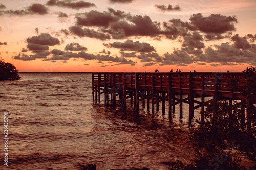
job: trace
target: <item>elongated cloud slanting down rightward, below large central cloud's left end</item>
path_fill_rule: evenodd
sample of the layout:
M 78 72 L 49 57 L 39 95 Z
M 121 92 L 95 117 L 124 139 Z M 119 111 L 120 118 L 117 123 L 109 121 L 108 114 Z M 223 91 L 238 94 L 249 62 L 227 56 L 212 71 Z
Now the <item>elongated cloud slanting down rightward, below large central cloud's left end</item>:
M 71 26 L 69 27 L 69 30 L 72 34 L 77 35 L 79 37 L 90 37 L 90 38 L 96 38 L 100 40 L 107 40 L 110 39 L 110 35 L 104 34 L 101 32 L 97 32 L 93 29 L 84 28 L 82 29 L 79 26 Z

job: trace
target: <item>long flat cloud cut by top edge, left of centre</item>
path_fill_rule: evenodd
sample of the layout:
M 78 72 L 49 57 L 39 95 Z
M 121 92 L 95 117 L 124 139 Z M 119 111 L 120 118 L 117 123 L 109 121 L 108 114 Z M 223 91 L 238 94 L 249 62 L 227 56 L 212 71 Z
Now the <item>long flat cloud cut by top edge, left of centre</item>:
M 65 7 L 65 8 L 71 8 L 79 10 L 81 8 L 89 8 L 89 7 L 96 7 L 95 4 L 84 2 L 84 1 L 78 1 L 78 2 L 70 2 L 70 1 L 59 1 L 59 0 L 49 0 L 46 5 L 49 6 L 59 6 L 59 7 Z

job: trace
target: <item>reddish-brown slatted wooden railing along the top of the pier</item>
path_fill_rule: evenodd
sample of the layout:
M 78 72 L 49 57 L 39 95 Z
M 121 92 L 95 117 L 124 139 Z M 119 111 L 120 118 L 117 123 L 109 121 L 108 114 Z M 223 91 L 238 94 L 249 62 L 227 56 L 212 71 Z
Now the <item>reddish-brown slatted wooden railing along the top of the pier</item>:
M 137 76 L 137 77 L 136 77 Z M 170 77 L 170 85 L 169 85 Z M 137 79 L 137 81 L 136 81 Z M 92 73 L 93 85 L 106 85 L 111 87 L 136 88 L 144 90 L 168 91 L 169 87 L 177 93 L 191 93 L 198 95 L 220 96 L 242 99 L 237 91 L 231 91 L 228 84 L 236 79 L 237 86 L 244 86 L 246 80 L 242 73 Z M 137 82 L 137 85 L 136 85 Z

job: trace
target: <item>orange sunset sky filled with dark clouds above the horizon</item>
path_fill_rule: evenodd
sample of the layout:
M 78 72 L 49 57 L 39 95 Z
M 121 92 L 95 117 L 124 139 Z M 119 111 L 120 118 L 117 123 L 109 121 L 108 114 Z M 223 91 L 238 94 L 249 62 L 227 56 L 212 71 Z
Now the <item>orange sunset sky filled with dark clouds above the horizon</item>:
M 0 60 L 19 72 L 241 72 L 255 0 L 0 0 Z

